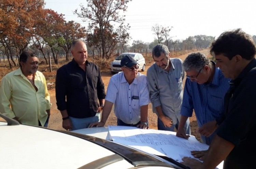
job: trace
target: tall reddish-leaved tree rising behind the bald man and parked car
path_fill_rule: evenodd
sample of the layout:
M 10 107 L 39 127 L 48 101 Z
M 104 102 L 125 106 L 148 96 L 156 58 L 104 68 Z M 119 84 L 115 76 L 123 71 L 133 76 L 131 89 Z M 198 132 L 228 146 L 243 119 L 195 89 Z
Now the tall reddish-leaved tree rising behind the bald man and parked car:
M 94 45 L 101 45 L 102 57 L 106 57 L 110 52 L 110 46 L 113 44 L 113 26 L 110 22 L 123 23 L 124 17 L 119 15 L 119 11 L 126 11 L 126 4 L 130 0 L 87 0 L 87 7 L 80 5 L 81 12 L 77 9 L 74 14 L 82 18 L 83 21 L 89 21 L 88 32 L 94 30 L 89 35 L 94 36 L 99 41 L 94 41 Z

